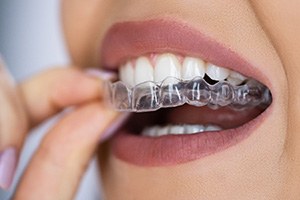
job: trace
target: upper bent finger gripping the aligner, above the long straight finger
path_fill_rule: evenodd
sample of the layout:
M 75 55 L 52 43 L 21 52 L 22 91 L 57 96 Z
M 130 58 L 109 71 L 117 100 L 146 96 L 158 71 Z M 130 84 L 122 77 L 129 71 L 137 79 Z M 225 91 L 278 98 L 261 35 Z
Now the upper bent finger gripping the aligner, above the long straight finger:
M 20 85 L 31 125 L 63 108 L 100 98 L 103 83 L 75 68 L 56 68 Z

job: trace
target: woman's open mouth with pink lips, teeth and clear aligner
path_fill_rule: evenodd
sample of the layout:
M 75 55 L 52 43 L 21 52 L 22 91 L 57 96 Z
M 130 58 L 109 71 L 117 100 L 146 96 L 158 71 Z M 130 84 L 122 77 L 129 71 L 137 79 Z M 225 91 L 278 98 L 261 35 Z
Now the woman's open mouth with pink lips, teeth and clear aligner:
M 221 152 L 270 113 L 266 76 L 185 23 L 117 23 L 101 52 L 104 68 L 119 74 L 108 85 L 112 105 L 132 113 L 110 146 L 131 164 L 174 165 Z

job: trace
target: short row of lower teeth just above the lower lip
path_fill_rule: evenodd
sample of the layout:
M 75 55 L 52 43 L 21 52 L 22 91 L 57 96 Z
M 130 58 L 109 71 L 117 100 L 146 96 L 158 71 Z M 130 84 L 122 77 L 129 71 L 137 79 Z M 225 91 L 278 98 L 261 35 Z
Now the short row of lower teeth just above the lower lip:
M 159 137 L 163 135 L 182 135 L 182 134 L 194 134 L 201 133 L 205 131 L 219 131 L 222 130 L 221 127 L 217 125 L 194 125 L 194 124 L 184 124 L 184 125 L 167 125 L 167 126 L 152 126 L 145 128 L 142 131 L 142 135 L 149 137 Z

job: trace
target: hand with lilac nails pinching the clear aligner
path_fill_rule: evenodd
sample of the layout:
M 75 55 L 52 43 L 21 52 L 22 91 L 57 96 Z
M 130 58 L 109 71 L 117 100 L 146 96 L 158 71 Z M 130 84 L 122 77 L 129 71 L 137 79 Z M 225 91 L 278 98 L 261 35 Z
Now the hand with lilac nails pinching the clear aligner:
M 26 133 L 74 107 L 47 133 L 15 199 L 72 199 L 89 160 L 117 113 L 101 101 L 102 82 L 74 68 L 52 69 L 14 85 L 0 70 L 0 187 L 7 189 Z

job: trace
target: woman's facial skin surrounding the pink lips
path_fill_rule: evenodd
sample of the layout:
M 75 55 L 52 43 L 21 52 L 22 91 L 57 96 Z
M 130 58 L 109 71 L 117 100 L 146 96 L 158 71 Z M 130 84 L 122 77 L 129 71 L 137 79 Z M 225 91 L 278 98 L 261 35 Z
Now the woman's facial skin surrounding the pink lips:
M 259 66 L 273 94 L 270 113 L 255 133 L 220 153 L 174 166 L 141 167 L 105 152 L 107 199 L 299 197 L 299 7 L 296 0 L 64 0 L 65 38 L 76 65 L 99 66 L 101 41 L 114 23 L 168 18 L 190 24 Z

